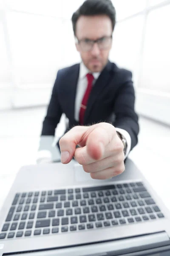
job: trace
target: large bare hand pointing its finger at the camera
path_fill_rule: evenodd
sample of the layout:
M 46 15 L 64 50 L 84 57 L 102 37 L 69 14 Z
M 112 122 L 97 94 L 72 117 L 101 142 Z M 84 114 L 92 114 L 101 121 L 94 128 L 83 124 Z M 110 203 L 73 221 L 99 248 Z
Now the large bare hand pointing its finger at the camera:
M 93 179 L 108 179 L 125 170 L 123 143 L 109 123 L 75 126 L 59 140 L 59 146 L 62 163 L 75 157 Z

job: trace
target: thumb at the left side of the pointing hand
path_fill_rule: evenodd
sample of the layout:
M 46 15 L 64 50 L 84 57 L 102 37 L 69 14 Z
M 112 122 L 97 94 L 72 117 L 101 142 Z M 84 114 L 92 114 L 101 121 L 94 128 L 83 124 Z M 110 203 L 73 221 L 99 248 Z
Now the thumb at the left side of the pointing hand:
M 62 163 L 69 163 L 72 160 L 76 146 L 82 141 L 87 129 L 85 126 L 75 126 L 59 140 Z

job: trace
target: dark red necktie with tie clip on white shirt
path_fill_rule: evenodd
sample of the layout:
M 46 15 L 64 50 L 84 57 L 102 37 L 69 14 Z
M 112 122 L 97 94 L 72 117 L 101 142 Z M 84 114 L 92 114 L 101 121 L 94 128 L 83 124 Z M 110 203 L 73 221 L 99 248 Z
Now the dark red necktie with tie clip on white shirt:
M 86 77 L 88 79 L 88 86 L 87 86 L 87 89 L 85 91 L 85 95 L 82 99 L 82 104 L 80 106 L 80 111 L 79 111 L 79 123 L 80 123 L 80 125 L 83 125 L 83 123 L 84 123 L 84 116 L 85 116 L 86 106 L 87 106 L 87 103 L 88 103 L 88 97 L 90 95 L 91 88 L 92 88 L 92 83 L 93 83 L 93 80 L 94 80 L 94 76 L 92 74 L 88 73 L 86 75 Z

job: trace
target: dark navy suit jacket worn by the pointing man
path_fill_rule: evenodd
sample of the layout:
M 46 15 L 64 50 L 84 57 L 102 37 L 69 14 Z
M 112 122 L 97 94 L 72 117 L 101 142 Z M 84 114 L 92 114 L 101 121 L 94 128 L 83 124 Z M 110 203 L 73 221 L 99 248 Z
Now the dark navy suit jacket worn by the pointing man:
M 42 135 L 54 135 L 62 113 L 69 119 L 69 129 L 79 125 L 74 119 L 74 103 L 79 78 L 79 64 L 59 70 L 52 90 Z M 134 111 L 135 94 L 132 73 L 108 64 L 96 80 L 85 111 L 85 125 L 112 122 L 131 137 L 131 149 L 137 144 L 138 116 Z

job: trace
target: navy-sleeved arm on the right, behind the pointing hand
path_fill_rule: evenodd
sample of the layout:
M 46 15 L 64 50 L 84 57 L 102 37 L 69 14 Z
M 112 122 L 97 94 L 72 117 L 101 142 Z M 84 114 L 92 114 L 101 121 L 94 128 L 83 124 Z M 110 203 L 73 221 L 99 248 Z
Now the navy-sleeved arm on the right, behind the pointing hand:
M 130 135 L 131 145 L 128 151 L 132 150 L 138 142 L 137 135 L 139 133 L 139 124 L 138 116 L 134 110 L 134 104 L 135 92 L 133 88 L 132 73 L 128 71 L 127 78 L 118 90 L 114 102 L 114 113 L 116 115 L 114 126 L 127 131 Z

